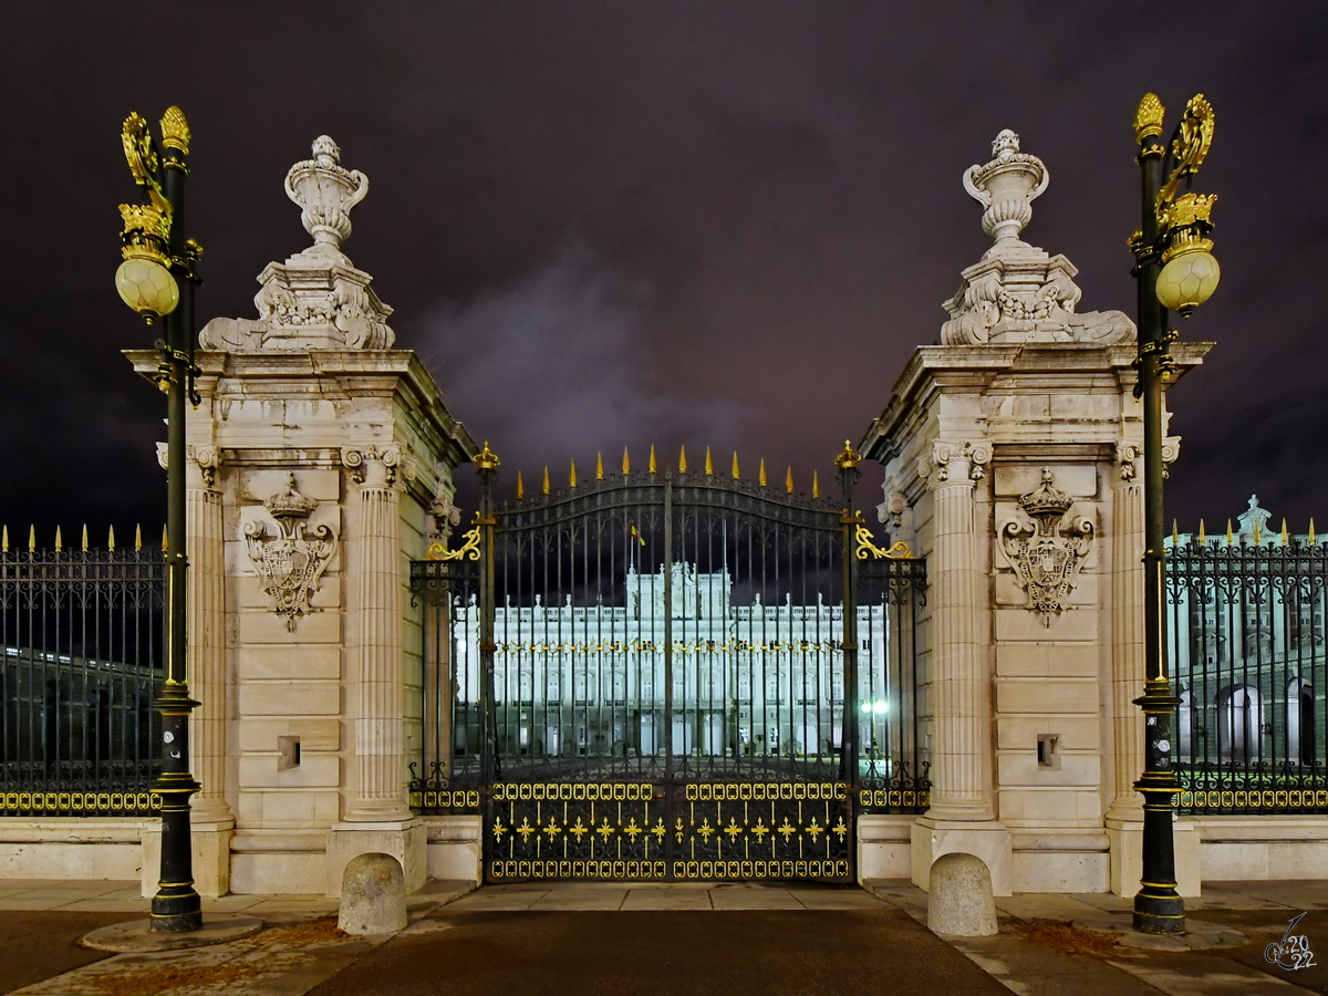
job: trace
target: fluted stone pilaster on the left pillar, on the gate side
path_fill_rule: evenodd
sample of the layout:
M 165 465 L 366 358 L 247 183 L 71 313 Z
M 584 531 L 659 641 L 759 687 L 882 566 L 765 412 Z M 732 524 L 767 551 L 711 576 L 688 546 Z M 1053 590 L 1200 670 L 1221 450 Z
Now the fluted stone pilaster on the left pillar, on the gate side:
M 401 600 L 400 453 L 345 450 L 359 485 L 360 530 L 355 584 L 359 606 L 352 721 L 355 788 L 347 822 L 409 819 L 405 791 L 405 701 Z

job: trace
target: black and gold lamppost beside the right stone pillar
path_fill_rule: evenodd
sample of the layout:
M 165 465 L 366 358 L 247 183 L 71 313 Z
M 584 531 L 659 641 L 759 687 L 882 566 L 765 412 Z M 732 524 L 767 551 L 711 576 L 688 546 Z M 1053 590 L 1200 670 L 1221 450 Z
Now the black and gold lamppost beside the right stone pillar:
M 1169 355 L 1177 337 L 1167 312 L 1189 317 L 1218 286 L 1218 262 L 1206 236 L 1215 194 L 1185 193 L 1212 142 L 1212 108 L 1190 98 L 1169 146 L 1163 147 L 1162 102 L 1147 94 L 1134 116 L 1143 177 L 1142 231 L 1130 239 L 1139 295 L 1138 381 L 1143 400 L 1143 874 L 1134 896 L 1134 928 L 1146 934 L 1183 934 L 1185 900 L 1177 892 L 1173 797 L 1181 785 L 1171 768 L 1171 714 L 1181 700 L 1166 667 L 1166 615 L 1162 611 L 1166 555 L 1162 550 L 1162 389 L 1175 371 Z M 1170 170 L 1169 170 L 1170 167 Z M 1166 181 L 1163 182 L 1163 177 Z

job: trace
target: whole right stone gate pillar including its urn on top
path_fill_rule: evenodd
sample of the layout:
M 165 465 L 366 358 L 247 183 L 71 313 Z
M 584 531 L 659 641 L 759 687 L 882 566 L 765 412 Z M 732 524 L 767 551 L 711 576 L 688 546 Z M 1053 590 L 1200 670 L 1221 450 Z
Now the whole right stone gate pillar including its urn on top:
M 997 895 L 1133 895 L 1135 329 L 1121 312 L 1076 311 L 1074 266 L 1020 238 L 1048 173 L 1017 135 L 1003 131 L 963 181 L 995 244 L 963 271 L 940 344 L 918 348 L 859 448 L 886 467 L 882 521 L 911 519 L 927 558 L 934 785 L 912 826 L 912 878 L 926 888 L 932 862 L 963 851 L 988 865 Z M 1207 349 L 1177 345 L 1177 376 Z M 1197 863 L 1179 871 L 1197 882 Z

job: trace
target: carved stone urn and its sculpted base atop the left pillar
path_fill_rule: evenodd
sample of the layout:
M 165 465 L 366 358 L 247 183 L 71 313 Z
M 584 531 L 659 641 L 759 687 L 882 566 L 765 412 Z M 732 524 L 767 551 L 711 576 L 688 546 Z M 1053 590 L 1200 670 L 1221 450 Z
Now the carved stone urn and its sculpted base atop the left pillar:
M 304 351 L 389 349 L 396 333 L 392 308 L 369 287 L 341 251 L 351 235 L 351 208 L 369 191 L 369 178 L 341 166 L 341 149 L 327 135 L 313 142 L 312 158 L 286 174 L 286 194 L 300 207 L 313 244 L 286 263 L 268 263 L 254 297 L 259 317 L 212 319 L 199 333 L 205 349 Z

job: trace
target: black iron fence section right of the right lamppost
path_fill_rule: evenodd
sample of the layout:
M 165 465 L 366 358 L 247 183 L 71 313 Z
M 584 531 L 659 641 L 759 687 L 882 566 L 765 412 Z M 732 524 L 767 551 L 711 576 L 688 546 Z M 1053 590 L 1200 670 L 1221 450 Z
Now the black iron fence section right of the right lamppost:
M 1328 544 L 1178 537 L 1167 640 L 1181 813 L 1328 813 Z

